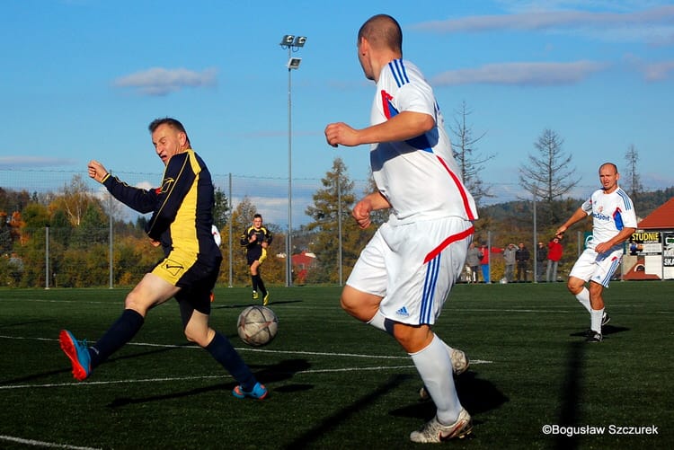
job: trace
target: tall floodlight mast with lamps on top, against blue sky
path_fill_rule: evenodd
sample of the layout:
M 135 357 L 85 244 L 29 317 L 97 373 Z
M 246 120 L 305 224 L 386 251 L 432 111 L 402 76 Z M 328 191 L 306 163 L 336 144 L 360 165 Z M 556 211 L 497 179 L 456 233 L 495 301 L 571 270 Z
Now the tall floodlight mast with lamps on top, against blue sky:
M 280 41 L 281 49 L 288 49 L 288 238 L 286 239 L 286 286 L 290 287 L 293 285 L 292 280 L 292 255 L 293 255 L 293 244 L 292 244 L 292 232 L 293 232 L 293 219 L 292 219 L 292 208 L 293 208 L 293 194 L 292 194 L 292 183 L 293 183 L 293 164 L 292 164 L 292 71 L 299 68 L 299 64 L 302 62 L 301 57 L 292 57 L 292 52 L 299 51 L 300 48 L 304 47 L 306 44 L 306 36 L 296 36 L 294 34 L 286 34 Z

